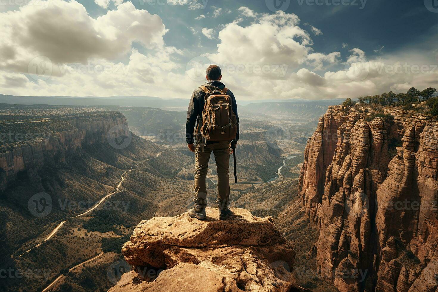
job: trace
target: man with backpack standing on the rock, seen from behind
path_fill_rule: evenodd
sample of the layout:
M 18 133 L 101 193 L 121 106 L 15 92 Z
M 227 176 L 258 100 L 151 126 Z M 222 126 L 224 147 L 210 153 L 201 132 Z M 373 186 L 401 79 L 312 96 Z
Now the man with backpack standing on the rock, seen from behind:
M 230 201 L 230 154 L 239 140 L 239 117 L 233 92 L 220 82 L 221 69 L 217 65 L 207 68 L 207 82 L 193 91 L 187 111 L 186 141 L 190 151 L 195 153 L 196 171 L 194 177 L 194 208 L 188 211 L 192 218 L 204 220 L 207 206 L 205 179 L 208 161 L 213 152 L 218 172 L 219 219 L 225 220 L 232 214 Z M 195 130 L 196 124 L 196 130 Z M 195 130 L 195 131 L 194 131 Z M 194 139 L 196 138 L 196 145 Z

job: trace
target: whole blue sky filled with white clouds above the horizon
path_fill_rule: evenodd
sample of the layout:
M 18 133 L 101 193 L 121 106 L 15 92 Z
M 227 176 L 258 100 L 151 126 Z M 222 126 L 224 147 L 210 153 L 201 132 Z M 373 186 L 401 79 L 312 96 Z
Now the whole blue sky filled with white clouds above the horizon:
M 437 88 L 436 0 L 0 0 L 0 94 L 240 100 Z

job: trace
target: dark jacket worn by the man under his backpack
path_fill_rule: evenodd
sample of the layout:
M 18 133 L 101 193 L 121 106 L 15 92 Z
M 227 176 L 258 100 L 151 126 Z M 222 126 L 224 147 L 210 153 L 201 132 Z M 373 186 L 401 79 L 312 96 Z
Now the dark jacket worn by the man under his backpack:
M 208 81 L 205 82 L 206 87 L 215 86 L 219 89 L 225 88 L 225 85 L 220 81 Z M 236 98 L 231 90 L 228 90 L 227 95 L 230 95 L 233 102 L 233 112 L 237 119 L 237 135 L 235 141 L 239 140 L 239 116 L 237 115 L 237 103 Z M 194 143 L 194 127 L 196 125 L 196 120 L 198 116 L 202 117 L 202 110 L 204 109 L 205 103 L 205 92 L 201 88 L 195 89 L 190 99 L 189 109 L 187 110 L 187 121 L 186 121 L 186 142 L 187 144 Z

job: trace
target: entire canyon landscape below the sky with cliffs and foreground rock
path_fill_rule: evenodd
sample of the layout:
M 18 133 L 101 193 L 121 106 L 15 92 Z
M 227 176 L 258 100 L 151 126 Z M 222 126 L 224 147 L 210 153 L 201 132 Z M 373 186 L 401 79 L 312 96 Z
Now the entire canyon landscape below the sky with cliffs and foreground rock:
M 229 232 L 237 234 L 215 223 L 212 210 L 205 224 L 181 215 L 191 206 L 194 167 L 184 143 L 131 132 L 148 129 L 177 137 L 184 130 L 184 113 L 119 106 L 10 107 L 19 115 L 4 115 L 6 133 L 40 135 L 1 146 L 2 262 L 39 270 L 49 261 L 53 270 L 45 281 L 15 279 L 9 291 L 17 283 L 30 291 L 159 290 L 171 287 L 166 277 L 191 287 L 194 281 L 183 276 L 197 272 L 207 273 L 220 291 L 437 289 L 438 126 L 427 114 L 330 106 L 316 123 L 320 107 L 309 107 L 307 120 L 245 113 L 237 149 L 240 183 L 231 185 L 230 193 L 240 216 L 233 224 L 243 226 L 238 236 L 252 236 L 245 245 L 226 242 L 233 239 Z M 275 107 L 261 105 L 266 113 Z M 215 174 L 212 167 L 209 193 L 215 192 Z M 27 206 L 40 192 L 54 202 L 45 217 L 29 214 Z M 92 204 L 65 209 L 55 204 L 60 200 Z M 129 206 L 126 213 L 93 208 L 117 202 Z M 146 238 L 146 226 L 157 236 Z M 199 238 L 211 228 L 220 236 L 206 249 Z M 169 242 L 172 234 L 177 237 Z M 142 253 L 151 238 L 160 238 L 152 244 L 159 262 Z M 276 241 L 263 246 L 254 242 L 257 238 Z M 272 264 L 279 262 L 286 270 Z M 109 277 L 107 270 L 117 264 L 127 273 Z M 155 281 L 142 278 L 138 267 L 153 271 Z

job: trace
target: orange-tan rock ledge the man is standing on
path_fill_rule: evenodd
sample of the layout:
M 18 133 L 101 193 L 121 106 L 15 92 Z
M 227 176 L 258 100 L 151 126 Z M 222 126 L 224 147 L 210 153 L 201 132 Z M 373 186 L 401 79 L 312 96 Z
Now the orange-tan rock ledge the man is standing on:
M 109 291 L 300 291 L 295 252 L 272 218 L 233 212 L 226 221 L 207 208 L 205 221 L 184 213 L 140 222 L 122 249 L 134 269 Z M 163 271 L 151 278 L 148 269 Z

